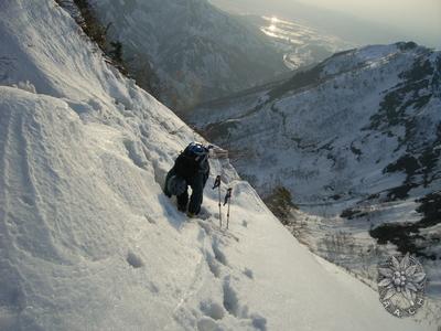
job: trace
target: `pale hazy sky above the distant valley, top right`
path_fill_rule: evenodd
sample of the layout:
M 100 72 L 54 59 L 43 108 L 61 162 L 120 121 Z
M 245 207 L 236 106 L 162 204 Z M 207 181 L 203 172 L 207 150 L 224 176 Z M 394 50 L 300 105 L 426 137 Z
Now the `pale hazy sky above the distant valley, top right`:
M 359 36 L 357 41 L 362 43 L 413 40 L 427 46 L 441 49 L 441 0 L 209 1 L 220 8 L 243 13 L 271 14 L 273 12 L 288 15 L 287 19 L 304 18 L 313 23 L 323 22 L 322 26 L 335 28 L 331 31 L 341 32 L 341 36 L 346 36 L 344 34 L 348 30 L 358 30 L 356 31 Z M 305 7 L 301 8 L 299 2 Z M 314 11 L 314 8 L 322 11 Z M 361 20 L 357 21 L 357 19 Z M 363 33 L 366 34 L 365 40 Z

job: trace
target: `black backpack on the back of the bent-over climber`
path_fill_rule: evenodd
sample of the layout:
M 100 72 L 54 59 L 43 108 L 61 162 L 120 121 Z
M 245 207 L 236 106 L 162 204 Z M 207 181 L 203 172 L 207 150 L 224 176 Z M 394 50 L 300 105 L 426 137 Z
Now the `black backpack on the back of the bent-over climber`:
M 176 173 L 185 179 L 193 178 L 201 169 L 201 164 L 208 158 L 208 150 L 201 143 L 192 142 L 174 162 Z

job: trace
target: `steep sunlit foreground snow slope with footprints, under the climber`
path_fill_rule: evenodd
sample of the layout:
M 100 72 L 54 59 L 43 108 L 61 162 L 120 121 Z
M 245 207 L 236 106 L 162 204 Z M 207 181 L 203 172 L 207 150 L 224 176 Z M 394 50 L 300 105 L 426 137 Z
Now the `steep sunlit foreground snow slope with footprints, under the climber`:
M 179 213 L 160 184 L 198 137 L 53 1 L 1 2 L 0 43 L 1 330 L 430 330 L 309 253 L 225 160 L 229 231 L 209 188 L 201 218 Z

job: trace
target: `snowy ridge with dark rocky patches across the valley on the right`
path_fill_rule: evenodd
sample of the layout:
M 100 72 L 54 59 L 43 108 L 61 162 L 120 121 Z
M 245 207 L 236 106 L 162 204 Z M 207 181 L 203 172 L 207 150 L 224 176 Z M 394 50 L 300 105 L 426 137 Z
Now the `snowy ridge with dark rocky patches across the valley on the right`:
M 314 252 L 374 278 L 389 242 L 424 259 L 440 298 L 441 52 L 409 42 L 338 53 L 190 121 L 261 196 L 291 193 L 289 226 Z

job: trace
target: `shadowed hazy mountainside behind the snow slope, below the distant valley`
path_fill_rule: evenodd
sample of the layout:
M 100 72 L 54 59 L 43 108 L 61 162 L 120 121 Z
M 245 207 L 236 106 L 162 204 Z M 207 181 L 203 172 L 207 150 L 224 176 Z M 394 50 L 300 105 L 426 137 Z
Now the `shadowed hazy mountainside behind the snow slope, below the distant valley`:
M 288 71 L 263 33 L 206 0 L 89 2 L 104 25 L 111 23 L 109 36 L 122 43 L 130 72 L 142 82 L 151 67 L 160 99 L 174 109 Z

